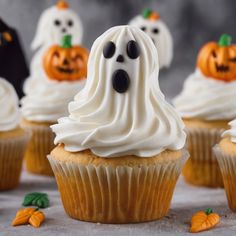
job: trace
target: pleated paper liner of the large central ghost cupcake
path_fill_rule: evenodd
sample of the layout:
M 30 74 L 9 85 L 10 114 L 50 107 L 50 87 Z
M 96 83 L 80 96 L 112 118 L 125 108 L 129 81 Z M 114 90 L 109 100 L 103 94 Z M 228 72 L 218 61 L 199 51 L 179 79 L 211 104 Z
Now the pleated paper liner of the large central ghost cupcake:
M 48 156 L 67 214 L 78 220 L 134 223 L 168 212 L 176 181 L 188 158 L 136 167 L 81 165 Z

